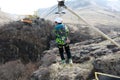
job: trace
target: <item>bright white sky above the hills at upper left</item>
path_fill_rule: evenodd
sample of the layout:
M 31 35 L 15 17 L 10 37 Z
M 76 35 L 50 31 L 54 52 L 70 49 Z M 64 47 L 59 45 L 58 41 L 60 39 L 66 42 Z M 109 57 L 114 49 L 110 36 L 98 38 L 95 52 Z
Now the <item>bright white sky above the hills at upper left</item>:
M 2 11 L 12 14 L 33 14 L 39 8 L 48 8 L 57 4 L 57 0 L 0 0 Z

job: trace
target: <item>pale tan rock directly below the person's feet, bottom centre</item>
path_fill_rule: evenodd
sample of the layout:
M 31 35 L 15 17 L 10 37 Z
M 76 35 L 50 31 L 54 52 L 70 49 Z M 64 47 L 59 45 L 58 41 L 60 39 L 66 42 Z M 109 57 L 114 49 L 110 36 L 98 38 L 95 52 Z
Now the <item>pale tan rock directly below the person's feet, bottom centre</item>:
M 91 65 L 90 65 L 91 66 Z M 86 80 L 92 67 L 73 64 L 73 66 L 52 64 L 46 68 L 40 68 L 33 73 L 33 80 Z M 89 69 L 88 69 L 89 68 Z M 46 77 L 45 77 L 46 76 Z

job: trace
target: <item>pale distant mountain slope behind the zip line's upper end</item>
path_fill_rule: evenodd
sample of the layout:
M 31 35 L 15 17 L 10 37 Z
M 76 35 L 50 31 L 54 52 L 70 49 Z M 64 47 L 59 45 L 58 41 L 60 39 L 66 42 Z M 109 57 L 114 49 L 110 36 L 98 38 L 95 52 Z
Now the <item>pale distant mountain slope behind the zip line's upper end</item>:
M 119 3 L 119 2 L 118 2 Z M 107 0 L 71 0 L 65 2 L 66 6 L 68 8 L 71 8 L 74 10 L 78 15 L 83 17 L 88 23 L 93 25 L 120 25 L 120 14 L 117 11 L 113 11 L 110 9 L 108 5 L 111 4 L 111 2 Z M 117 4 L 117 2 L 116 2 Z M 111 5 L 112 6 L 112 5 Z M 44 11 L 40 11 L 40 16 L 45 17 L 46 19 L 53 20 L 58 14 L 55 14 L 57 12 L 56 6 L 53 6 L 51 8 L 45 9 Z M 119 7 L 116 7 L 117 10 L 120 10 Z M 63 9 L 66 14 L 63 14 L 62 17 L 64 19 L 65 23 L 76 23 L 76 24 L 83 24 L 80 20 L 78 20 L 77 17 L 75 17 L 73 14 L 68 12 L 67 10 Z M 110 21 L 112 20 L 112 21 Z

